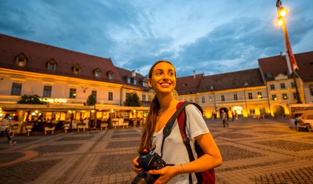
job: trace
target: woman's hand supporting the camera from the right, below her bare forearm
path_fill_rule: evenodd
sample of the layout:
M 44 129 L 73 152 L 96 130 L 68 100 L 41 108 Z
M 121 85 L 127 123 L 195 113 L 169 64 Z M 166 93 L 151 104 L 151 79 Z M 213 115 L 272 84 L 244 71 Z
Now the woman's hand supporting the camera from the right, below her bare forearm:
M 158 179 L 155 181 L 154 184 L 166 184 L 170 181 L 174 176 L 181 173 L 180 165 L 174 166 L 166 166 L 159 170 L 149 170 L 150 174 L 159 175 Z

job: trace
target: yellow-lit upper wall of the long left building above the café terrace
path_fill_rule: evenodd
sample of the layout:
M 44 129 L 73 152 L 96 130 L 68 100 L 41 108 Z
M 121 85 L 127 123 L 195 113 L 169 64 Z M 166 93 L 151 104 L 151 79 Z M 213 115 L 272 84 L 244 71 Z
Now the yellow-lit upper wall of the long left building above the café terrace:
M 21 95 L 43 96 L 44 85 L 52 86 L 52 99 L 66 99 L 66 103 L 83 105 L 92 90 L 97 91 L 99 104 L 120 105 L 120 92 L 122 84 L 82 80 L 54 75 L 45 75 L 19 70 L 0 68 L 0 102 L 16 103 L 20 96 L 11 95 L 12 83 L 22 83 Z M 69 98 L 69 89 L 76 89 L 76 98 Z M 109 101 L 109 92 L 113 93 L 113 100 Z M 65 102 L 63 102 L 65 103 Z

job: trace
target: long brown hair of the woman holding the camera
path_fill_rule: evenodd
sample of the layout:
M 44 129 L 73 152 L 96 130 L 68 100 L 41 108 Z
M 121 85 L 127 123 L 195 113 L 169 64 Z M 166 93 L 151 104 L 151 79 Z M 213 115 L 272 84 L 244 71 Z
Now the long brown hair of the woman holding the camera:
M 154 63 L 154 65 L 152 65 L 152 67 L 150 68 L 149 75 L 148 75 L 149 79 L 150 80 L 152 79 L 153 68 L 156 66 L 156 64 L 160 62 L 166 62 L 166 63 L 171 64 L 174 68 L 175 78 L 176 78 L 176 70 L 175 70 L 174 65 L 170 61 L 160 60 L 160 61 L 156 61 L 156 63 Z M 142 136 L 141 136 L 141 141 L 140 141 L 140 145 L 138 149 L 139 153 L 143 153 L 144 149 L 147 149 L 148 151 L 152 149 L 151 135 L 154 133 L 155 128 L 156 128 L 156 118 L 159 115 L 159 112 L 158 112 L 159 109 L 160 109 L 160 104 L 156 97 L 152 100 L 150 104 L 150 110 L 149 110 L 146 122 L 144 123 L 143 128 L 142 128 Z

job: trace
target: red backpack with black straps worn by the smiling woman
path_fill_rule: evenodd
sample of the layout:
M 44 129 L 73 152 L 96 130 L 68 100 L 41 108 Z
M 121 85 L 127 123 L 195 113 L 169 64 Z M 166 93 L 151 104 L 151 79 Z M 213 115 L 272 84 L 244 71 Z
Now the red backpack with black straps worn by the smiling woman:
M 171 134 L 173 124 L 175 123 L 175 120 L 177 119 L 178 125 L 179 125 L 179 132 L 180 132 L 182 141 L 186 146 L 188 156 L 189 156 L 189 161 L 192 162 L 195 160 L 195 157 L 192 153 L 190 140 L 186 134 L 186 121 L 187 121 L 186 116 L 187 116 L 187 114 L 186 114 L 185 107 L 188 104 L 195 105 L 201 111 L 201 114 L 203 114 L 202 108 L 197 103 L 188 102 L 188 101 L 179 102 L 176 106 L 176 109 L 177 109 L 176 112 L 173 114 L 173 116 L 170 118 L 170 120 L 166 123 L 166 125 L 163 129 L 163 141 L 162 141 L 162 146 L 161 146 L 161 155 L 162 155 L 164 140 L 167 136 L 169 136 Z M 195 150 L 196 150 L 198 158 L 203 155 L 203 150 L 197 141 L 195 142 Z M 210 169 L 210 170 L 203 171 L 203 172 L 198 172 L 195 174 L 196 174 L 196 177 L 198 180 L 198 184 L 215 184 L 214 169 Z M 191 173 L 189 173 L 189 183 L 192 184 Z

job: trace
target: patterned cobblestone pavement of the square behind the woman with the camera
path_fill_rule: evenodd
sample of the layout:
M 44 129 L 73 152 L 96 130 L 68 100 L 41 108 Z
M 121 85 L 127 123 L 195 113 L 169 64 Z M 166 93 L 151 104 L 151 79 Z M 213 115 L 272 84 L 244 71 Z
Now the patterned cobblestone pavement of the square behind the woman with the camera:
M 224 128 L 206 121 L 223 156 L 217 184 L 313 184 L 313 133 L 289 129 L 280 119 L 242 118 Z M 140 128 L 0 139 L 0 164 L 38 152 L 24 162 L 0 167 L 0 184 L 130 184 Z M 8 154 L 8 151 L 14 151 Z

